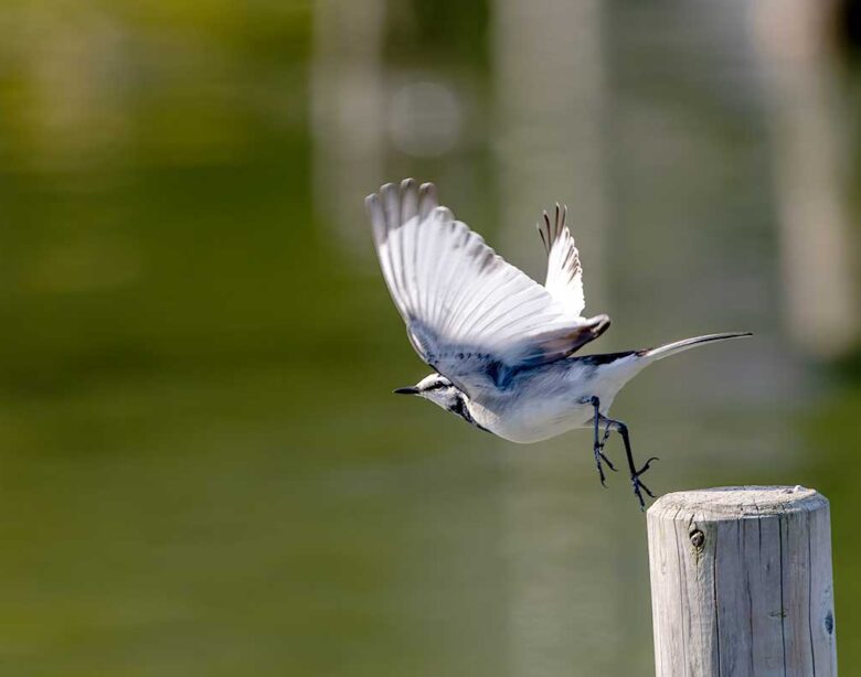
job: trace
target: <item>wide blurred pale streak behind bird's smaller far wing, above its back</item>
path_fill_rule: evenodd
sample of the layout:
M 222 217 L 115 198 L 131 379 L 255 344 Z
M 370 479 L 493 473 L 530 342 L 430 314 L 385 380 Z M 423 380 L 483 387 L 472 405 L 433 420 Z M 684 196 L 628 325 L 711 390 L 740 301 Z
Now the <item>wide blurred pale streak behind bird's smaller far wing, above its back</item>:
M 543 279 L 532 224 L 568 203 L 586 268 L 586 313 L 605 308 L 605 46 L 603 3 L 496 0 L 493 139 L 501 196 L 500 249 Z

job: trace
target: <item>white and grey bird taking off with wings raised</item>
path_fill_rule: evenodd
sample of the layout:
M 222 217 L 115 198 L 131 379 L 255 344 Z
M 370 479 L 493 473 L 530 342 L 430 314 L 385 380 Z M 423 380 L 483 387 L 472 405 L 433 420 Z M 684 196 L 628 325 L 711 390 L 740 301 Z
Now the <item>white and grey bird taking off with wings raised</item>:
M 433 183 L 386 183 L 365 198 L 383 278 L 418 356 L 433 372 L 394 390 L 426 399 L 504 440 L 533 443 L 591 428 L 602 485 L 613 431 L 621 437 L 634 494 L 655 494 L 637 466 L 628 427 L 613 400 L 646 366 L 682 351 L 751 332 L 723 332 L 658 347 L 576 355 L 610 325 L 586 318 L 583 268 L 559 203 L 536 224 L 548 255 L 544 284 L 507 262 L 440 205 Z M 603 433 L 602 433 L 603 429 Z

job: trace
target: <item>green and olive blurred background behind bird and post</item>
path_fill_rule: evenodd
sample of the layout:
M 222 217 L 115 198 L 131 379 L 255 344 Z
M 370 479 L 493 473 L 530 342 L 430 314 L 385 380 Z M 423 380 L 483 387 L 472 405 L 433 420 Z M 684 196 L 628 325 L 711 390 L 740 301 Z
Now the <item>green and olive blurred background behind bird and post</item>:
M 831 499 L 861 674 L 859 12 L 748 4 L 4 0 L 0 674 L 653 674 L 589 434 L 390 395 L 405 175 L 536 276 L 567 202 L 596 350 L 756 333 L 614 412 L 658 493 Z

